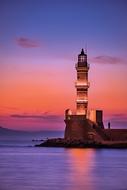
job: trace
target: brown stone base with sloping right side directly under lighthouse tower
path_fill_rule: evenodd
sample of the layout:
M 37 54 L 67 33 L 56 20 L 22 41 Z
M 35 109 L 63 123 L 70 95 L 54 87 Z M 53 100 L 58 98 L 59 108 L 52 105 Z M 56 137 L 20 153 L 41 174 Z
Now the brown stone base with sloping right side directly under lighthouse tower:
M 65 140 L 102 141 L 104 138 L 106 139 L 102 129 L 91 120 L 86 119 L 84 115 L 70 115 L 66 117 L 65 123 Z

